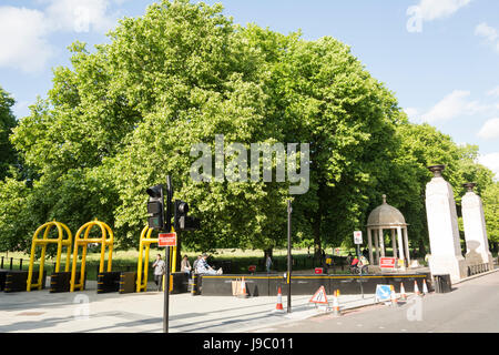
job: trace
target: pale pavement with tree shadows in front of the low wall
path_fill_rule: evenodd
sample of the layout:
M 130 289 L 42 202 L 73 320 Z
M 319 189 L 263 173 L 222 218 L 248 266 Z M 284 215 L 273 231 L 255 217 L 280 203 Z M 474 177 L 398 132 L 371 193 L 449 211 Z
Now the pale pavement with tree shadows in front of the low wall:
M 489 273 L 496 271 L 499 270 Z M 162 292 L 96 294 L 92 282 L 88 282 L 88 287 L 90 290 L 75 293 L 51 294 L 48 290 L 0 293 L 0 333 L 162 332 Z M 407 288 L 410 298 L 411 290 Z M 293 296 L 292 313 L 287 314 L 276 312 L 277 297 L 171 295 L 169 329 L 171 333 L 243 333 L 272 332 L 284 325 L 299 326 L 299 322 L 325 313 L 324 306 L 316 307 L 309 303 L 310 297 Z M 330 307 L 330 295 L 328 297 Z M 287 307 L 286 300 L 283 296 L 284 310 Z M 342 312 L 353 312 L 374 304 L 374 294 L 365 294 L 364 297 L 339 296 Z

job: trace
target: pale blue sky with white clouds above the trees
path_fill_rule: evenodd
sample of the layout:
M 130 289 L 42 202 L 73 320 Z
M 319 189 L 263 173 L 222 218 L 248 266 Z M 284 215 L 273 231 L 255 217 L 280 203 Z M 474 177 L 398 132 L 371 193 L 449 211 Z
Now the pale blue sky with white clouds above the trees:
M 67 47 L 106 42 L 145 0 L 0 0 L 0 85 L 18 118 L 52 87 Z M 206 1 L 214 3 L 218 1 Z M 457 143 L 480 146 L 499 176 L 499 1 L 225 0 L 225 14 L 305 39 L 332 36 L 395 92 L 413 122 L 429 122 Z

